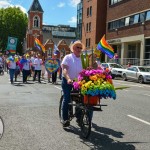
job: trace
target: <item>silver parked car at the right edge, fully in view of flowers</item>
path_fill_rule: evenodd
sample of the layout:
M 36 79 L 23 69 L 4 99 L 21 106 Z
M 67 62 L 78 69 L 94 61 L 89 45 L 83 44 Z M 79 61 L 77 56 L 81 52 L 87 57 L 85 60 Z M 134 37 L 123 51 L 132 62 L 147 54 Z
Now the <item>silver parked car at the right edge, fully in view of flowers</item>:
M 145 66 L 131 66 L 122 73 L 123 80 L 137 80 L 139 83 L 150 83 L 150 72 Z

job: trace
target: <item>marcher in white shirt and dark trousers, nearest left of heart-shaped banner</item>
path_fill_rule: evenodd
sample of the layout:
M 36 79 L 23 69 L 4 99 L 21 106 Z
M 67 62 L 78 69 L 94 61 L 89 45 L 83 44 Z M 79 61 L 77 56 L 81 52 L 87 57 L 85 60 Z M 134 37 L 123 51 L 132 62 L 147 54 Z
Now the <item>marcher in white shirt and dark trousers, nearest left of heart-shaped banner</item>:
M 36 79 L 36 75 L 38 74 L 38 82 L 41 83 L 41 65 L 42 65 L 42 59 L 40 59 L 40 54 L 37 55 L 37 58 L 35 58 L 34 60 L 34 69 L 35 69 L 35 73 L 34 73 L 34 77 L 33 77 L 33 81 L 35 81 Z

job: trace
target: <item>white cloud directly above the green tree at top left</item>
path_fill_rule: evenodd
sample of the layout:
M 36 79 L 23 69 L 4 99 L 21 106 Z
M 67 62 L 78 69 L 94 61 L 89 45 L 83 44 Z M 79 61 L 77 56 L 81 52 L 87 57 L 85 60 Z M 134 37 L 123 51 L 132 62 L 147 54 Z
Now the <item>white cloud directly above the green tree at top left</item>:
M 14 6 L 19 7 L 22 10 L 22 12 L 27 13 L 27 10 L 19 4 L 13 5 L 11 4 L 10 0 L 0 0 L 0 8 L 7 8 L 7 7 L 14 7 Z

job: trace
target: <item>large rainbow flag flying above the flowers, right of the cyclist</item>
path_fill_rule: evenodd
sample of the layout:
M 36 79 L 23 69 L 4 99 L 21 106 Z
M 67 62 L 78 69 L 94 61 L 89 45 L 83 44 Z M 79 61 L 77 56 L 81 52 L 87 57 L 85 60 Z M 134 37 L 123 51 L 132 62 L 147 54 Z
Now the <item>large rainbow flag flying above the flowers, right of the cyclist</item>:
M 114 49 L 105 40 L 105 35 L 101 38 L 97 45 L 97 49 L 105 53 L 109 58 L 114 57 Z

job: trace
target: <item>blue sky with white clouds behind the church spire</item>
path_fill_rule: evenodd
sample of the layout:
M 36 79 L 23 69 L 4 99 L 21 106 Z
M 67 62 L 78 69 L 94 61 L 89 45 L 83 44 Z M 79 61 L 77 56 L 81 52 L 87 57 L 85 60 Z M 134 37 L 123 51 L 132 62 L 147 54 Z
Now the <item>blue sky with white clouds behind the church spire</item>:
M 30 9 L 33 0 L 0 0 L 0 8 L 20 7 L 24 13 Z M 39 0 L 45 25 L 70 25 L 76 27 L 77 4 L 80 0 Z

